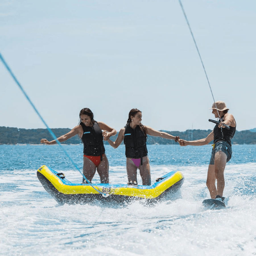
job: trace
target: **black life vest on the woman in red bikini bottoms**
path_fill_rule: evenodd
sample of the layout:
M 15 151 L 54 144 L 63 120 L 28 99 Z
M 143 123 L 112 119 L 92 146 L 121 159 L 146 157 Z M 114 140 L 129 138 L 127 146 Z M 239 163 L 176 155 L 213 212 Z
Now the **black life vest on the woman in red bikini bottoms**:
M 92 127 L 80 122 L 83 128 L 82 142 L 84 144 L 84 155 L 101 156 L 105 153 L 102 130 L 97 122 Z

